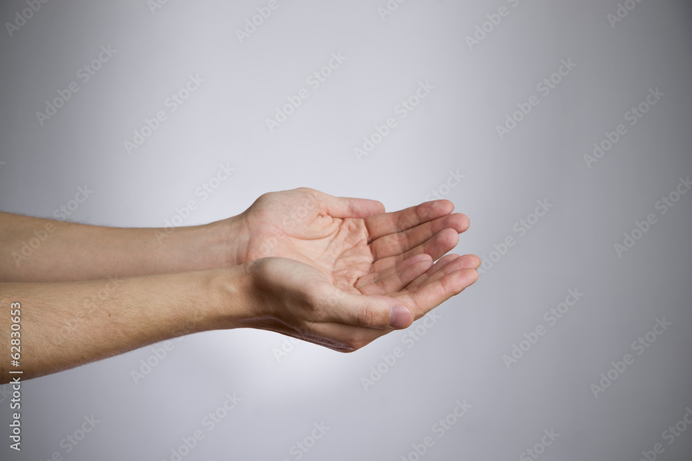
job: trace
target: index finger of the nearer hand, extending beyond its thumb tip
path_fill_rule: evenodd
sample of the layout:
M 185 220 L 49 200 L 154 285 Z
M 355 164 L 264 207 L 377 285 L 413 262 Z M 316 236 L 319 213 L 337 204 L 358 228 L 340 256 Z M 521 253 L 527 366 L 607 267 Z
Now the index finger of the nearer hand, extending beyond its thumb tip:
M 436 308 L 444 301 L 459 294 L 478 279 L 475 269 L 465 268 L 444 274 L 439 279 L 430 277 L 419 287 L 394 295 L 398 301 L 412 307 L 416 319 Z

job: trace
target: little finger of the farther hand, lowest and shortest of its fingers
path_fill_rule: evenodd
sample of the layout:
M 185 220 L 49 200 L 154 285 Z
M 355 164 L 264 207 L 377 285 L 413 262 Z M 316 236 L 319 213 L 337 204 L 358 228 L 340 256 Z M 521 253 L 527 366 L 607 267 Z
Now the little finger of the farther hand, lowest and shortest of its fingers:
M 362 276 L 356 282 L 356 288 L 363 294 L 398 292 L 421 274 L 425 274 L 432 265 L 429 254 L 417 254 L 382 272 L 372 272 Z

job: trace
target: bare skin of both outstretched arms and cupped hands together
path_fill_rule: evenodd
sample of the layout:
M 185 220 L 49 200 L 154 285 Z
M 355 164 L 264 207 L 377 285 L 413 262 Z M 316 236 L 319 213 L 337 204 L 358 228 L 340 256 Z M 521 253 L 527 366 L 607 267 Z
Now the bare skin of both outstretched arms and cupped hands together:
M 468 229 L 468 218 L 452 211 L 436 200 L 385 213 L 374 200 L 303 188 L 172 232 L 0 213 L 2 382 L 13 368 L 15 302 L 22 379 L 219 329 L 358 350 L 477 280 L 477 256 L 444 256 Z M 54 227 L 41 234 L 46 225 Z M 36 232 L 44 238 L 24 256 Z

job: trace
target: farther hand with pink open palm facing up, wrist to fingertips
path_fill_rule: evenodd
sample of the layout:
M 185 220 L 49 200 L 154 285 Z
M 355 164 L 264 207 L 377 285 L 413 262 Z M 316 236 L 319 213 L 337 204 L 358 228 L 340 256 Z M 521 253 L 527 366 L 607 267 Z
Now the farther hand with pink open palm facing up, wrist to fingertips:
M 457 245 L 468 218 L 437 200 L 394 213 L 374 200 L 313 189 L 271 192 L 230 224 L 230 265 L 281 256 L 318 269 L 337 288 L 361 294 L 402 290 Z M 465 256 L 466 267 L 478 265 Z M 480 264 L 480 262 L 479 262 Z

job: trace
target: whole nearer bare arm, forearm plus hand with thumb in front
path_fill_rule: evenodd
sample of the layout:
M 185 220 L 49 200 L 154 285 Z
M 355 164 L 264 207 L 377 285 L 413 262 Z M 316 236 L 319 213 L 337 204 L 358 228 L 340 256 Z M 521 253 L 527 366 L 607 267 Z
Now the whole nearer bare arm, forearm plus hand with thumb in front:
M 0 283 L 0 383 L 30 379 L 194 332 L 260 328 L 351 352 L 458 294 L 477 279 L 477 258 L 442 258 L 408 270 L 408 288 L 361 294 L 289 258 L 203 270 L 62 283 Z M 397 279 L 399 277 L 397 276 Z M 19 335 L 12 335 L 19 303 Z M 20 339 L 19 367 L 10 337 Z

